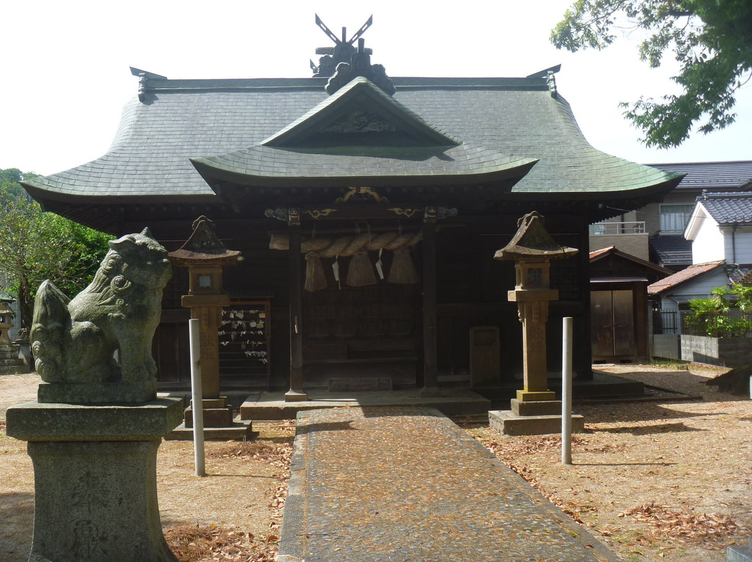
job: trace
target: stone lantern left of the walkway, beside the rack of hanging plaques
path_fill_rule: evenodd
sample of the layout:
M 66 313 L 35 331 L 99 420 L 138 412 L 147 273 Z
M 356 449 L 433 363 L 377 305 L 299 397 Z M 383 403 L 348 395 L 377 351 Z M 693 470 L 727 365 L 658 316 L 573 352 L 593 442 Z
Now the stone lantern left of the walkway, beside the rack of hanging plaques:
M 190 308 L 191 318 L 199 319 L 202 407 L 204 425 L 207 428 L 232 426 L 232 406 L 227 406 L 227 397 L 220 396 L 218 331 L 222 322 L 222 309 L 230 304 L 229 295 L 222 290 L 222 268 L 241 261 L 243 258 L 240 253 L 226 249 L 214 232 L 214 222 L 205 216 L 199 216 L 193 222 L 193 234 L 190 238 L 183 247 L 169 255 L 173 264 L 188 267 L 188 295 L 183 295 L 181 304 Z M 185 411 L 185 427 L 193 427 L 191 408 Z

